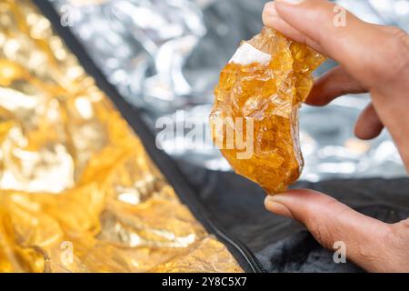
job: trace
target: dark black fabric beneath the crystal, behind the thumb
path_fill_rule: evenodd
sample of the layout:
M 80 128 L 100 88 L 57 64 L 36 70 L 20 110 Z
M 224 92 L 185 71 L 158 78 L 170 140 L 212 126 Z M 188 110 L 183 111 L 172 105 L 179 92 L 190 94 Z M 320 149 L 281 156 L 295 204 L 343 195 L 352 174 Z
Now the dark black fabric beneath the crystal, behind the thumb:
M 300 224 L 264 209 L 264 191 L 234 173 L 208 171 L 183 162 L 179 167 L 220 226 L 244 243 L 268 272 L 363 272 L 347 262 L 335 264 Z M 300 182 L 334 196 L 367 216 L 394 223 L 409 216 L 409 179 L 351 179 Z

